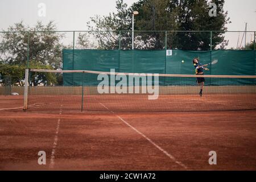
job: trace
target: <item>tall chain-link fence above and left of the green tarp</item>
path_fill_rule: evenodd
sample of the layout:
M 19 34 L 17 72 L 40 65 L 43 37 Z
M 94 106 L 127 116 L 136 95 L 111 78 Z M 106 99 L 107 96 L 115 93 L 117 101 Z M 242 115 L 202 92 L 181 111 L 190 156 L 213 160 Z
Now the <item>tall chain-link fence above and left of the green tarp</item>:
M 255 50 L 255 39 L 255 31 L 0 32 L 0 93 L 10 94 L 11 87 L 22 86 L 20 80 L 23 79 L 20 78 L 22 73 L 13 73 L 9 68 L 4 70 L 3 64 L 16 65 L 15 69 L 62 69 L 63 49 L 131 50 L 134 47 L 137 50 Z

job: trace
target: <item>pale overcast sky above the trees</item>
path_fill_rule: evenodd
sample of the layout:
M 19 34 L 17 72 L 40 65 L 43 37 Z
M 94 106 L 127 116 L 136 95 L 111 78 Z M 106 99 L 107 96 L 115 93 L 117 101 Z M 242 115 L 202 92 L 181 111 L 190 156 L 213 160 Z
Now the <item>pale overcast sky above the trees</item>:
M 136 0 L 124 0 L 128 6 Z M 39 3 L 46 5 L 46 16 L 38 16 Z M 226 0 L 225 10 L 232 23 L 228 30 L 256 31 L 256 0 Z M 6 30 L 11 24 L 20 22 L 34 26 L 36 21 L 48 23 L 54 20 L 58 30 L 87 30 L 86 22 L 93 15 L 108 15 L 115 11 L 115 0 L 0 0 L 0 29 Z M 241 35 L 242 36 L 242 35 Z M 236 46 L 238 34 L 230 33 L 230 46 Z M 252 34 L 247 34 L 247 40 Z

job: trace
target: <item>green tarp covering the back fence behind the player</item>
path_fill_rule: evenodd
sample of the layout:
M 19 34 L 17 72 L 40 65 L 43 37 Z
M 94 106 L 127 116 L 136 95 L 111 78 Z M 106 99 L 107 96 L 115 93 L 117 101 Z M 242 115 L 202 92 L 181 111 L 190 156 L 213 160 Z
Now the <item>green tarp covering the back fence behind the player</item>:
M 218 63 L 210 65 L 210 71 L 205 75 L 255 75 L 256 59 L 254 50 L 214 50 L 214 51 L 181 51 L 172 50 L 172 56 L 166 56 L 166 50 L 93 50 L 93 49 L 64 49 L 64 70 L 89 70 L 129 73 L 169 73 L 169 74 L 195 74 L 192 64 L 193 57 L 199 57 L 202 64 L 217 59 Z M 181 61 L 184 60 L 184 63 Z M 96 78 L 84 80 L 79 77 L 64 75 L 64 85 L 97 84 Z M 88 76 L 86 76 L 88 77 Z M 96 80 L 94 80 L 96 79 Z M 211 80 L 211 79 L 210 79 Z M 160 80 L 160 84 L 174 84 Z M 176 85 L 183 85 L 176 81 Z M 194 82 L 191 84 L 195 84 Z M 223 85 L 218 81 L 209 81 L 208 85 Z M 226 83 L 227 84 L 227 83 Z M 248 84 L 241 80 L 234 80 L 229 84 Z M 250 82 L 249 84 L 254 84 Z

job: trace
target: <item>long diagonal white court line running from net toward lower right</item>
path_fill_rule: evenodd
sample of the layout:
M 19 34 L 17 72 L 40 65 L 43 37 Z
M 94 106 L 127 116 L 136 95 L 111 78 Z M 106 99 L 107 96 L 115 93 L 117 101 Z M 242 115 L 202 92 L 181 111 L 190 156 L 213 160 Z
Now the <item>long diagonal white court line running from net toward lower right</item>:
M 156 148 L 158 148 L 160 151 L 162 151 L 165 155 L 168 156 L 168 158 L 170 158 L 172 161 L 174 161 L 176 164 L 178 164 L 179 166 L 188 169 L 187 166 L 185 166 L 185 164 L 179 162 L 174 156 L 172 156 L 171 154 L 169 154 L 167 151 L 165 151 L 163 148 L 161 148 L 160 146 L 158 146 L 158 144 L 156 144 L 155 142 L 153 142 L 150 138 L 148 138 L 146 135 L 144 135 L 143 133 L 141 133 L 141 131 L 135 129 L 135 127 L 131 126 L 128 122 L 126 122 L 123 118 L 119 117 L 119 115 L 115 114 L 112 110 L 110 110 L 108 107 L 106 107 L 104 104 L 102 104 L 100 102 L 100 104 L 102 106 L 104 106 L 106 109 L 108 109 L 111 113 L 113 113 L 116 117 L 118 117 L 123 123 L 125 123 L 127 126 L 131 127 L 131 129 L 133 129 L 134 131 L 136 131 L 139 135 L 141 135 L 143 138 L 145 138 L 146 140 L 148 140 L 148 142 L 150 142 L 151 144 L 153 144 Z

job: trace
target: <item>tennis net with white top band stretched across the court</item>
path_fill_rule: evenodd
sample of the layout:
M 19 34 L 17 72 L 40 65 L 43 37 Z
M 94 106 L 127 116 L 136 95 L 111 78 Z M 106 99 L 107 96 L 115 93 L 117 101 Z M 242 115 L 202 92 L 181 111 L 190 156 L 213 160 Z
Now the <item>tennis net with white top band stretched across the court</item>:
M 222 111 L 256 109 L 256 76 L 26 71 L 24 109 Z M 197 81 L 204 81 L 202 96 Z

